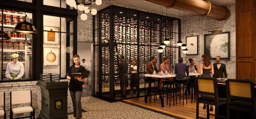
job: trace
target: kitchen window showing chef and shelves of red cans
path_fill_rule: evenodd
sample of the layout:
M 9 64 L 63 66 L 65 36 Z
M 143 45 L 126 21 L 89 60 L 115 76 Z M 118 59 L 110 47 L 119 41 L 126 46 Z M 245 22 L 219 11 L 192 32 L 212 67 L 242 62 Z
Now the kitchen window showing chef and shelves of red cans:
M 0 9 L 0 11 L 0 27 L 11 37 L 9 40 L 0 38 L 0 79 L 32 79 L 33 35 L 13 32 L 15 25 L 25 20 L 25 13 L 12 9 Z M 26 15 L 26 20 L 32 23 L 32 13 L 26 13 Z M 19 66 L 18 69 L 12 67 L 14 63 Z

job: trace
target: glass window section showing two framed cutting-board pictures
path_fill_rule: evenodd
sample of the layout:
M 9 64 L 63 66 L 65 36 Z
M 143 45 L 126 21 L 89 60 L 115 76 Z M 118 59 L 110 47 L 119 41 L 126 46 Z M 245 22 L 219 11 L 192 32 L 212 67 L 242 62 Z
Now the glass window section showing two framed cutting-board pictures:
M 43 73 L 60 74 L 60 77 L 64 78 L 67 57 L 70 58 L 69 66 L 72 65 L 72 25 L 67 28 L 66 18 L 56 16 L 43 15 L 43 20 Z

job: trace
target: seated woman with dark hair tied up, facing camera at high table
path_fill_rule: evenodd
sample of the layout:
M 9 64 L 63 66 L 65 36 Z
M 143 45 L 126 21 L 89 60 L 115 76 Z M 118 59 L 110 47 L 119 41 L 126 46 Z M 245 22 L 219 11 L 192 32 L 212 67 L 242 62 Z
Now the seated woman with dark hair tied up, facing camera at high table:
M 199 68 L 198 68 L 198 66 L 195 66 L 195 65 L 194 65 L 194 60 L 191 59 L 191 58 L 189 58 L 188 61 L 189 61 L 189 63 L 190 63 L 190 64 L 188 65 L 188 72 L 191 73 L 191 72 L 195 72 L 195 70 L 196 70 L 196 72 L 198 73 L 198 72 L 199 72 Z M 194 83 L 194 82 L 195 82 L 196 76 L 195 76 L 195 75 L 189 76 L 189 78 L 190 78 L 190 80 L 188 81 L 188 86 L 187 86 L 187 88 L 186 88 L 186 90 L 185 90 L 185 95 L 187 94 L 187 89 L 190 89 L 191 83 Z M 190 90 L 188 90 L 188 95 L 190 95 Z

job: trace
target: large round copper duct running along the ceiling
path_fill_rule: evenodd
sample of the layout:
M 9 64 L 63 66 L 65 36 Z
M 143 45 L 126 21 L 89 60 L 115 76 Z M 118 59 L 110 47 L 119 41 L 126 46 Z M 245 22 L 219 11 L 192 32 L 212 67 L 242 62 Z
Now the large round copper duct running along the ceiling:
M 226 6 L 219 6 L 210 3 L 208 0 L 144 0 L 151 3 L 163 5 L 166 8 L 175 8 L 199 16 L 208 16 L 217 20 L 225 20 L 229 16 Z

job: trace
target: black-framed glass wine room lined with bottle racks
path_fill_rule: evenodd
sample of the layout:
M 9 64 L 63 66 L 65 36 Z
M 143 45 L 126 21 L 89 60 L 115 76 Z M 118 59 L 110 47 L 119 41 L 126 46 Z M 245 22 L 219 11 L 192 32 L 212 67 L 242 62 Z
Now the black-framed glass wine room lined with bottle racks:
M 164 52 L 157 52 L 159 44 L 170 39 Z M 180 50 L 180 19 L 111 5 L 100 10 L 93 18 L 94 82 L 93 94 L 106 100 L 121 100 L 145 95 L 148 83 L 144 81 L 146 66 L 152 56 L 160 70 L 163 58 L 168 57 L 173 71 Z M 123 55 L 128 67 L 136 61 L 136 87 L 131 91 L 131 72 L 127 70 L 126 95 L 121 96 L 117 68 Z M 154 84 L 152 84 L 154 86 Z

